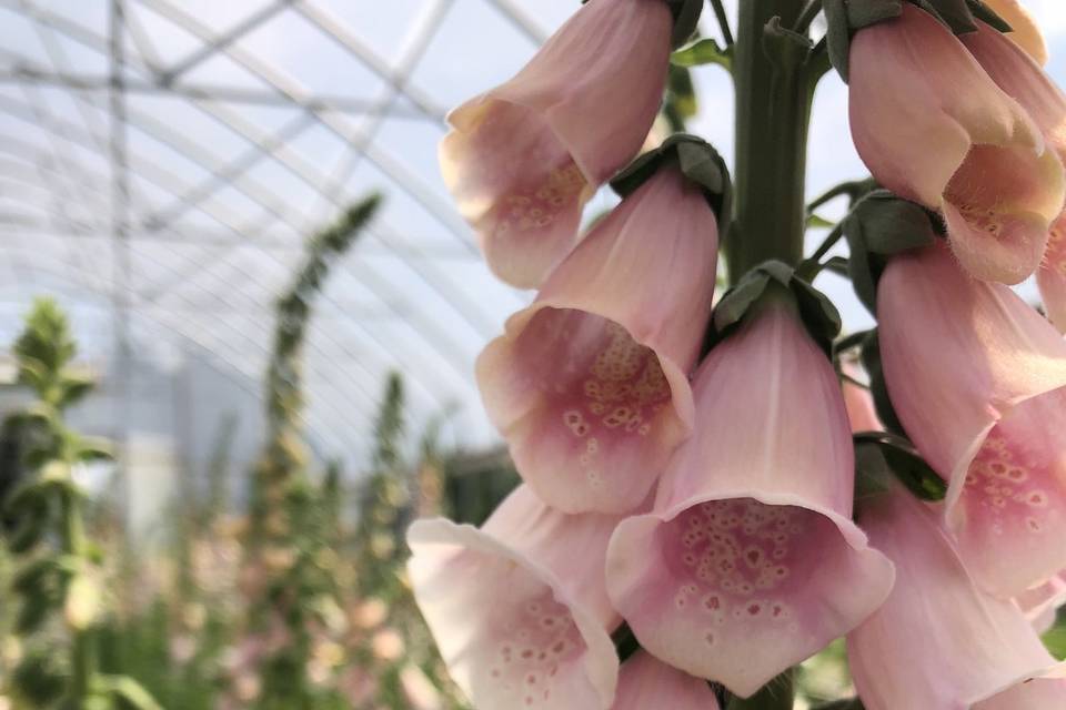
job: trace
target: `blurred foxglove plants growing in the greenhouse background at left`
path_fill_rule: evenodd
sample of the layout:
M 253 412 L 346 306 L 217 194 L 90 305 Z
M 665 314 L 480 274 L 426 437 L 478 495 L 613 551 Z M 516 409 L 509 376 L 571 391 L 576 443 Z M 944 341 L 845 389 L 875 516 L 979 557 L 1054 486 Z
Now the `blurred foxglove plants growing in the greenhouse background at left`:
M 78 483 L 93 466 L 119 473 L 104 443 L 62 423 L 93 382 L 66 316 L 36 303 L 13 351 L 37 400 L 7 417 L 0 448 L 0 708 L 464 707 L 414 606 L 402 532 L 441 513 L 480 523 L 516 483 L 506 457 L 446 450 L 447 409 L 409 432 L 398 374 L 361 475 L 319 466 L 302 432 L 314 297 L 378 203 L 309 240 L 278 301 L 259 460 L 234 470 L 238 422 L 224 418 L 151 554 L 130 539 L 118 486 L 90 497 Z

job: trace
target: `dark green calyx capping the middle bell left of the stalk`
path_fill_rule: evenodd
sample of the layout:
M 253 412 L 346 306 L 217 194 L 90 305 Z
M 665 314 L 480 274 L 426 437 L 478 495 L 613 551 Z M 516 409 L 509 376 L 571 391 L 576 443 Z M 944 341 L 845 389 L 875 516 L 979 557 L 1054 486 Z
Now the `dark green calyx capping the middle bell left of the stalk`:
M 671 135 L 616 174 L 611 186 L 626 197 L 666 165 L 676 165 L 685 178 L 700 185 L 718 219 L 718 239 L 724 240 L 733 211 L 733 182 L 725 161 L 702 138 L 688 133 Z

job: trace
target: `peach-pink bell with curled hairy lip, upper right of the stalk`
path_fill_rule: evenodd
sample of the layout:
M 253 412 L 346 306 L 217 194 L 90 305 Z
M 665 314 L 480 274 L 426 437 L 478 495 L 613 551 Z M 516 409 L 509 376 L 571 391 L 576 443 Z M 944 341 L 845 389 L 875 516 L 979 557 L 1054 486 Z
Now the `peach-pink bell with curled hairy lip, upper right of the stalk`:
M 1025 109 L 911 3 L 859 30 L 849 63 L 852 136 L 874 178 L 941 210 L 952 248 L 978 278 L 1014 284 L 1036 271 L 1066 181 Z

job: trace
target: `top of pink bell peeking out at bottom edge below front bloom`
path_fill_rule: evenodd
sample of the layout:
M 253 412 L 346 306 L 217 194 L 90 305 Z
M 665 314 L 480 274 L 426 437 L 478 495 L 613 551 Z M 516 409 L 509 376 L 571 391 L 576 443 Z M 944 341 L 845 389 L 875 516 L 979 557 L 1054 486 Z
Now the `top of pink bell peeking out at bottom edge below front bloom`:
M 718 710 L 707 681 L 636 651 L 622 663 L 611 710 Z

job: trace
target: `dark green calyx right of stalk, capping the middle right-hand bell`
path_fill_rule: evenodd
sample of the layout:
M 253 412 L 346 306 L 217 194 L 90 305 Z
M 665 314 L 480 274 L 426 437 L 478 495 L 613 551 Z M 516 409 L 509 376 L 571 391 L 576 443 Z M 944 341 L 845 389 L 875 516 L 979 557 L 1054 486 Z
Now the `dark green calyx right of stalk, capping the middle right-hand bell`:
M 844 217 L 844 236 L 851 250 L 848 275 L 863 305 L 877 312 L 877 282 L 888 257 L 929 246 L 944 234 L 939 216 L 922 205 L 875 190 Z

